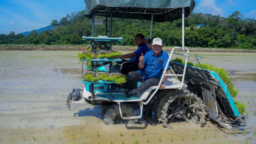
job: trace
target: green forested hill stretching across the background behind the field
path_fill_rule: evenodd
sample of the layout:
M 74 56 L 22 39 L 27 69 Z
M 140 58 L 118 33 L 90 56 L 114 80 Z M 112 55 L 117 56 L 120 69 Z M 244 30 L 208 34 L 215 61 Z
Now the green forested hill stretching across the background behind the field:
M 32 31 L 28 36 L 11 32 L 0 35 L 0 44 L 87 44 L 82 36 L 92 36 L 92 20 L 81 12 L 73 12 L 61 20 L 52 20 L 56 26 L 49 31 L 37 34 Z M 95 19 L 104 19 L 96 16 Z M 109 36 L 108 19 L 108 36 Z M 205 27 L 196 28 L 198 24 Z M 240 12 L 234 12 L 228 18 L 211 14 L 192 13 L 185 18 L 185 46 L 256 49 L 256 22 L 246 19 Z M 112 37 L 123 37 L 121 45 L 135 45 L 134 36 L 150 34 L 150 21 L 113 18 Z M 105 22 L 95 25 L 95 35 L 105 35 Z M 157 23 L 153 22 L 152 37 L 162 38 L 164 46 L 181 45 L 181 19 Z M 117 44 L 118 45 L 118 44 Z

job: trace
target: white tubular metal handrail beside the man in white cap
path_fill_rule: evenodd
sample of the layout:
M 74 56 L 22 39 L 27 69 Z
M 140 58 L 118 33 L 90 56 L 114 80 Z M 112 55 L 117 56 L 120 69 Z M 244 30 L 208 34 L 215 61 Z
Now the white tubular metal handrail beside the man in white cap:
M 187 53 L 186 53 L 186 54 L 182 54 L 182 53 L 173 52 L 175 49 L 181 49 L 181 50 L 186 49 L 186 50 L 187 50 Z M 149 101 L 153 98 L 153 96 L 156 94 L 156 92 L 159 90 L 160 85 L 161 85 L 162 82 L 163 82 L 164 76 L 182 76 L 181 86 L 180 86 L 179 89 L 181 89 L 181 88 L 183 87 L 184 78 L 185 78 L 185 72 L 186 72 L 187 62 L 188 62 L 188 57 L 189 57 L 189 54 L 188 54 L 188 53 L 189 53 L 189 50 L 188 50 L 187 47 L 174 47 L 174 48 L 172 49 L 172 52 L 171 52 L 171 54 L 170 54 L 170 56 L 169 56 L 169 59 L 168 59 L 166 65 L 165 65 L 165 68 L 164 68 L 163 74 L 162 74 L 162 76 L 161 76 L 160 82 L 159 82 L 159 84 L 157 85 L 157 88 L 156 88 L 156 90 L 153 92 L 153 94 L 149 97 L 149 99 L 148 99 L 146 102 L 143 102 L 144 105 L 147 105 L 147 104 L 149 103 Z M 186 57 L 185 66 L 184 66 L 184 71 L 183 71 L 183 74 L 182 74 L 182 75 L 177 75 L 177 74 L 165 74 L 165 71 L 166 71 L 168 65 L 170 65 L 169 62 L 170 62 L 170 60 L 171 60 L 171 58 L 172 58 L 172 54 L 184 55 L 184 56 Z

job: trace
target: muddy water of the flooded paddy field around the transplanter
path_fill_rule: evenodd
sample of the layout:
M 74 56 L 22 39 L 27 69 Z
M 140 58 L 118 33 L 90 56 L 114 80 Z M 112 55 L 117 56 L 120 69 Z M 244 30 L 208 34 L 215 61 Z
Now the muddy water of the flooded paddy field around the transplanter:
M 124 140 L 130 144 L 136 139 L 138 143 L 147 143 L 147 139 L 149 143 L 171 143 L 171 139 L 172 143 L 255 143 L 255 53 L 196 52 L 204 57 L 202 63 L 227 72 L 235 69 L 232 81 L 239 89 L 236 99 L 247 106 L 248 126 L 253 126 L 246 131 L 224 130 L 210 121 L 201 128 L 178 120 L 169 124 L 169 129 L 147 115 L 140 120 L 142 124 L 105 125 L 102 114 L 106 107 L 73 104 L 68 111 L 68 93 L 84 86 L 76 53 L 0 51 L 0 143 L 117 144 Z M 194 54 L 190 53 L 189 60 L 196 63 Z

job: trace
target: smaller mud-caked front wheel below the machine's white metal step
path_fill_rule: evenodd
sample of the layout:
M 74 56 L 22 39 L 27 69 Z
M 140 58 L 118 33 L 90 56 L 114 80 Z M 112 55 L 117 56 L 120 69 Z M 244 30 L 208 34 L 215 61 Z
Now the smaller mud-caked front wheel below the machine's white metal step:
M 131 106 L 129 106 L 128 104 L 121 103 L 121 110 L 122 110 L 123 117 L 124 116 L 136 116 L 136 111 L 134 111 L 133 108 Z M 106 111 L 106 113 L 104 115 L 104 123 L 107 125 L 109 125 L 109 124 L 124 124 L 124 123 L 134 124 L 137 121 L 138 121 L 137 119 L 123 120 L 120 116 L 118 104 L 112 105 Z

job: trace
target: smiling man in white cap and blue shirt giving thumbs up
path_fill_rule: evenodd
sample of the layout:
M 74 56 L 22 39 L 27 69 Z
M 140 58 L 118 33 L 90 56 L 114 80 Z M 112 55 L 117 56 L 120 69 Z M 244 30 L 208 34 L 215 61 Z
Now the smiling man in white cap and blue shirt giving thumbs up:
M 153 51 L 145 54 L 141 53 L 139 58 L 139 68 L 141 70 L 129 72 L 127 75 L 128 85 L 132 90 L 126 92 L 126 96 L 130 97 L 140 92 L 146 91 L 150 86 L 159 84 L 169 56 L 167 52 L 162 51 L 163 43 L 160 38 L 154 38 L 152 44 Z M 168 73 L 170 65 L 168 65 L 165 74 Z M 164 76 L 163 83 L 160 85 L 160 90 L 163 90 L 166 84 L 167 76 Z M 137 82 L 142 82 L 137 88 Z

